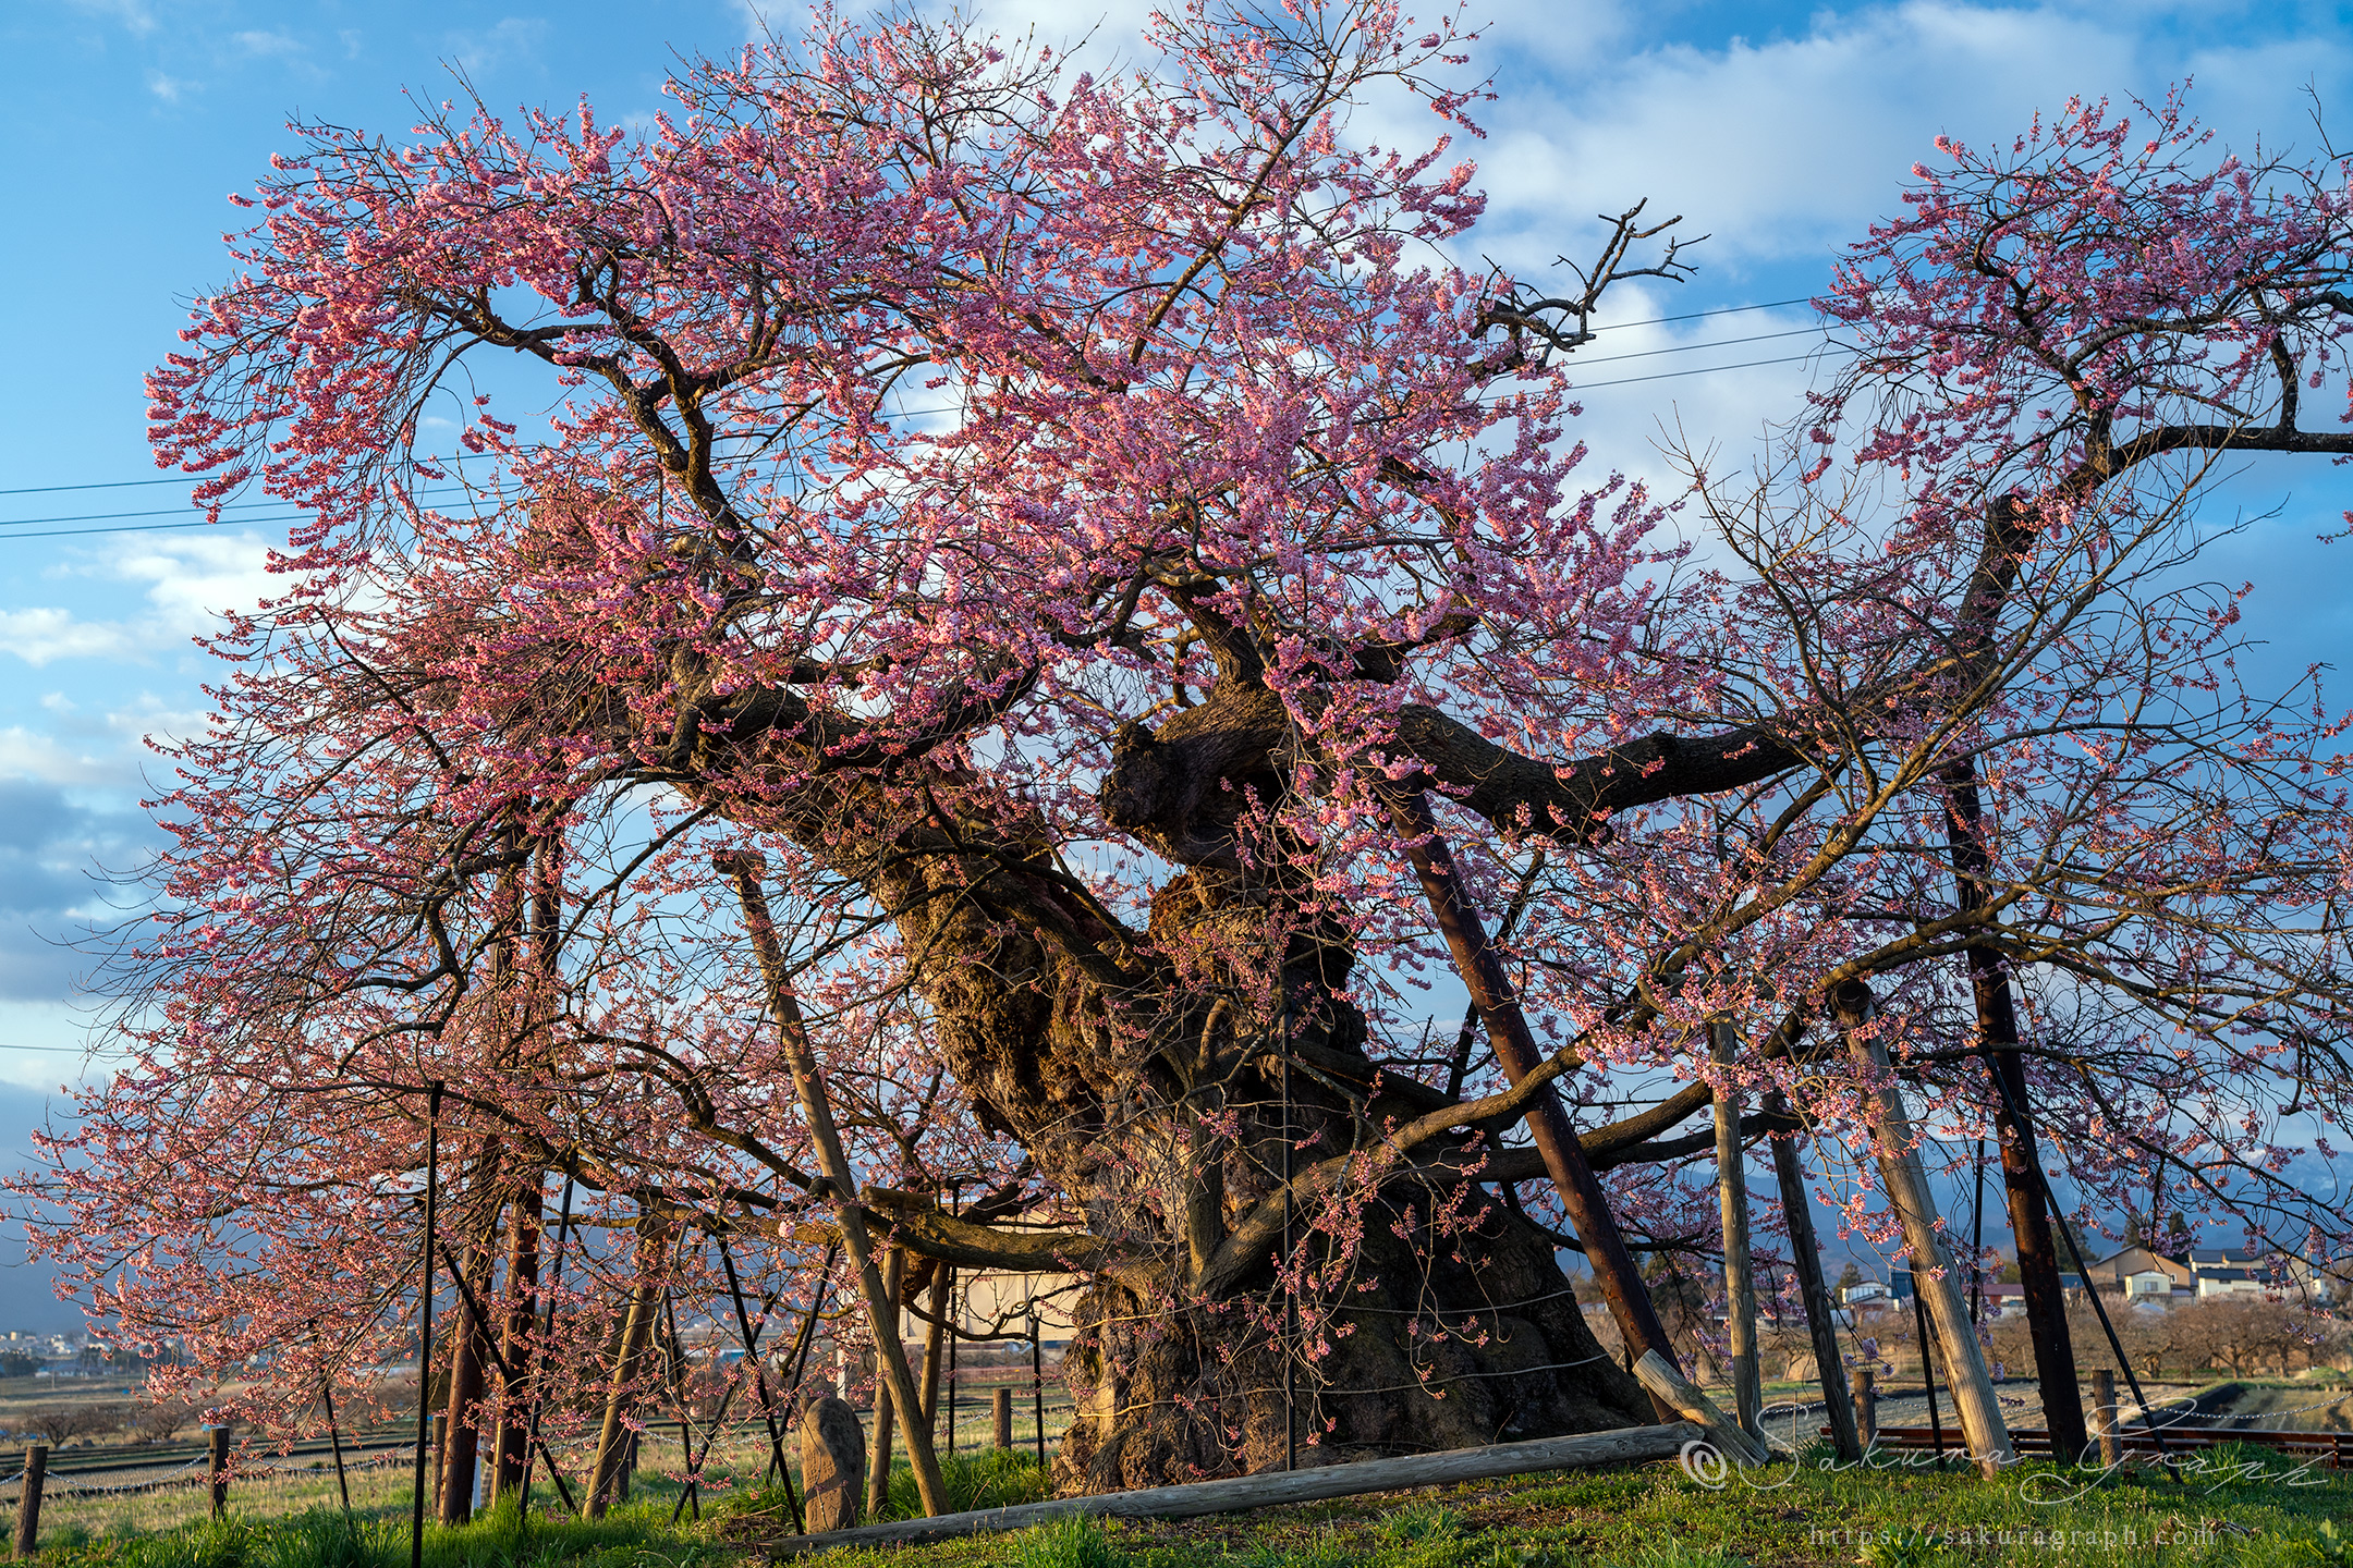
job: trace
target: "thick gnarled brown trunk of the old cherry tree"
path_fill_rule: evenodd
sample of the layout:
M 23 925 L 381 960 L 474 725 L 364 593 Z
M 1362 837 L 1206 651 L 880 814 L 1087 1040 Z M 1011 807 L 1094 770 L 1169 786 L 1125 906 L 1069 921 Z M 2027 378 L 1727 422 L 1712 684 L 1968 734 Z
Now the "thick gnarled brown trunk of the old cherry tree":
M 1259 1326 L 1264 1309 L 1280 1312 L 1275 1232 L 1261 1225 L 1280 1211 L 1271 1180 L 1280 1166 L 1271 1133 L 1278 1051 L 1304 1067 L 1297 1114 L 1301 1138 L 1315 1140 L 1311 1161 L 1377 1140 L 1400 1114 L 1431 1112 L 1424 1098 L 1438 1093 L 1369 1063 L 1365 1018 L 1346 999 L 1346 931 L 1299 912 L 1313 905 L 1280 882 L 1275 858 L 1235 849 L 1245 804 L 1285 790 L 1285 764 L 1266 750 L 1273 731 L 1231 722 L 1264 696 L 1221 689 L 1179 712 L 1165 743 L 1141 726 L 1122 731 L 1104 811 L 1113 823 L 1136 820 L 1141 842 L 1188 867 L 1155 891 L 1146 931 L 1085 900 L 1042 830 L 1028 837 L 988 806 L 960 816 L 960 778 L 944 764 L 925 764 L 934 778 L 920 811 L 901 811 L 875 783 L 840 780 L 812 790 L 795 816 L 765 820 L 824 853 L 894 917 L 904 950 L 920 954 L 911 980 L 941 1060 L 981 1124 L 1019 1140 L 1040 1185 L 1078 1211 L 1066 1229 L 1007 1232 L 911 1194 L 852 1190 L 856 1201 L 842 1206 L 845 1244 L 868 1225 L 866 1208 L 887 1206 L 894 1237 L 920 1255 L 1092 1281 L 1066 1361 L 1080 1410 L 1056 1467 L 1064 1488 L 1235 1474 L 1280 1455 L 1282 1415 L 1268 1396 L 1280 1389 L 1280 1361 Z M 718 745 L 708 731 L 704 743 Z M 774 947 L 746 910 L 755 943 Z M 1252 969 L 1268 952 L 1280 954 L 1280 973 Z M 791 1034 L 784 954 L 760 961 Z M 1492 999 L 1508 994 L 1482 985 Z M 1513 1039 L 1527 1048 L 1513 1060 L 1537 1067 L 1544 1058 L 1525 1018 L 1492 1011 L 1506 1051 Z M 1532 1098 L 1555 1072 L 1548 1063 L 1511 1077 Z M 1586 1168 L 1584 1182 L 1572 1175 L 1572 1222 L 1588 1248 L 1617 1239 L 1593 1168 L 1706 1152 L 1708 1133 L 1659 1143 L 1706 1100 L 1701 1086 L 1605 1128 L 1591 1159 L 1558 1107 L 1544 1119 L 1553 1154 L 1569 1150 Z M 1527 1112 L 1522 1098 L 1501 1114 Z M 1341 1312 L 1351 1333 L 1334 1338 L 1311 1378 L 1301 1429 L 1329 1427 L 1301 1450 L 1304 1462 L 1617 1427 L 1652 1413 L 1640 1385 L 1593 1342 L 1546 1234 L 1475 1192 L 1466 1229 L 1431 1234 L 1433 1208 L 1452 1213 L 1466 1197 L 1466 1166 L 1485 1161 L 1482 1180 L 1532 1180 L 1555 1164 L 1492 1143 L 1473 1159 L 1466 1147 L 1480 1128 L 1471 1121 L 1449 1121 L 1369 1201 L 1358 1279 L 1377 1288 L 1351 1291 Z M 1489 1140 L 1494 1131 L 1485 1128 Z M 821 1192 L 833 1187 L 824 1175 Z M 1478 1218 L 1482 1206 L 1492 1213 Z M 1395 1225 L 1414 1241 L 1388 1234 Z M 1631 1260 L 1621 1274 L 1633 1274 Z M 1621 1302 L 1638 1324 L 1657 1324 L 1638 1279 Z M 1447 1338 L 1433 1347 L 1426 1333 L 1440 1321 Z M 915 1408 L 899 1389 L 894 1403 Z M 906 1425 L 913 1446 L 922 1427 Z

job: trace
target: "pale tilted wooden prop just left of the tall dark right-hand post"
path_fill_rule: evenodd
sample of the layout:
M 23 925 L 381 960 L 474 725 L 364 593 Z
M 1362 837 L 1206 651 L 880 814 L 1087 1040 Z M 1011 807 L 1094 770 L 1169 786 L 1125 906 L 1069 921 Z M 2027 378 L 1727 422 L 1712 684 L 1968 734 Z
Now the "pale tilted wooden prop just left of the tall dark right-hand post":
M 1960 1295 L 1960 1279 L 1953 1258 L 1937 1232 L 1937 1201 L 1929 1194 L 1927 1166 L 1913 1135 L 1911 1114 L 1897 1091 L 1894 1070 L 1882 1046 L 1868 1030 L 1875 1011 L 1871 987 L 1861 980 L 1845 980 L 1831 994 L 1831 1011 L 1847 1034 L 1847 1051 L 1854 1065 L 1871 1079 L 1864 1095 L 1864 1112 L 1871 1119 L 1875 1154 L 1880 1161 L 1880 1185 L 1904 1225 L 1904 1251 L 1911 1255 L 1913 1288 L 1927 1302 L 1929 1326 L 1937 1331 L 1937 1349 L 1944 1354 L 1944 1375 L 1953 1392 L 1953 1408 L 1960 1415 L 1960 1436 L 1969 1446 L 1969 1458 L 1988 1479 L 2005 1465 L 2017 1462 L 2009 1443 L 2009 1427 L 2002 1422 L 2002 1401 L 1993 1392 L 1986 1373 L 1986 1354 L 1977 1345 L 1977 1326 L 1969 1321 L 1969 1302 Z

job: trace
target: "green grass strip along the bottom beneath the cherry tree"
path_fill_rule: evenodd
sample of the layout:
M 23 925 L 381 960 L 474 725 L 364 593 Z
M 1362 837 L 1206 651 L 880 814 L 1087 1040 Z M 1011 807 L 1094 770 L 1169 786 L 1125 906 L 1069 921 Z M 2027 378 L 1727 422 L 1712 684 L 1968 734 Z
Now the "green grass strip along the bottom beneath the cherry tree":
M 2212 1455 L 2209 1455 L 2212 1460 Z M 2242 1465 L 2238 1460 L 2245 1460 Z M 946 1467 L 958 1507 L 1042 1490 L 1014 1455 Z M 899 1497 L 911 1505 L 911 1488 Z M 426 1533 L 428 1568 L 765 1568 L 791 1533 L 781 1493 L 741 1490 L 671 1528 L 645 1497 L 598 1523 L 501 1512 Z M 165 1533 L 54 1530 L 59 1568 L 405 1568 L 407 1516 L 334 1509 Z M 2247 1448 L 2188 1486 L 2028 1465 L 1986 1483 L 1934 1469 L 1772 1467 L 1708 1490 L 1673 1465 L 1525 1476 L 1221 1519 L 1071 1519 L 934 1547 L 835 1552 L 824 1568 L 2353 1568 L 2353 1479 L 2292 1476 Z

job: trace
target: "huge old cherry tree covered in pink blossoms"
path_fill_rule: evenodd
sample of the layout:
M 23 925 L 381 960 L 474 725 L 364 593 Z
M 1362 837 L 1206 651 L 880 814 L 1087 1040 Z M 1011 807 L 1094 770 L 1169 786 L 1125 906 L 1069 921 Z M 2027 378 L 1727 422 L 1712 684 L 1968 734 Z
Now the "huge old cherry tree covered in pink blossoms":
M 2339 731 L 2193 567 L 2214 456 L 2353 451 L 2297 423 L 2341 172 L 2198 172 L 2172 108 L 1946 148 L 1824 301 L 1854 371 L 1671 515 L 1567 437 L 1671 226 L 1548 296 L 1449 261 L 1445 139 L 1353 136 L 1473 129 L 1452 26 L 1153 42 L 826 16 L 642 134 L 306 127 L 153 381 L 202 501 L 313 522 L 176 752 L 136 1065 L 31 1182 L 101 1305 L 280 1347 L 299 1418 L 407 1333 L 442 1081 L 536 1378 L 480 1422 L 619 1401 L 588 1347 L 718 1241 L 807 1298 L 856 1222 L 1085 1281 L 1061 1479 L 1111 1488 L 1647 1420 L 1555 1248 L 1668 1349 L 1628 1237 L 1692 1234 L 1718 1091 L 1842 1161 L 1892 1074 L 2087 1204 L 2337 1237 L 2271 1110 L 2346 1105 Z

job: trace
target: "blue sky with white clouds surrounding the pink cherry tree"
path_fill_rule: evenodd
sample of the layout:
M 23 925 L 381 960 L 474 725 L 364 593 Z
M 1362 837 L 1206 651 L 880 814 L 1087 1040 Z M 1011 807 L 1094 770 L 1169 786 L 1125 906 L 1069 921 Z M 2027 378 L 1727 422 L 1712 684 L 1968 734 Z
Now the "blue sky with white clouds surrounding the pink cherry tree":
M 1014 0 L 979 7 L 1045 40 L 1094 33 L 1134 54 L 1144 7 Z M 1492 19 L 1482 66 L 1504 99 L 1468 148 L 1492 193 L 1466 254 L 1544 268 L 1579 254 L 1593 214 L 1635 197 L 1682 212 L 1701 273 L 1628 289 L 1619 322 L 1788 301 L 1821 289 L 1838 244 L 1894 209 L 1932 139 L 2007 139 L 2071 94 L 2162 94 L 2233 143 L 2313 146 L 2304 87 L 2353 146 L 2353 26 L 2334 5 L 1473 5 Z M 800 12 L 767 19 L 793 31 Z M 661 106 L 678 54 L 729 52 L 746 5 L 282 5 L 266 0 L 49 0 L 0 16 L 0 247 L 12 374 L 0 378 L 0 1150 L 26 1131 L 80 1056 L 71 947 L 104 917 L 96 867 L 153 842 L 136 802 L 141 738 L 198 722 L 207 677 L 191 637 L 207 611 L 266 585 L 278 508 L 216 529 L 181 524 L 153 480 L 141 376 L 167 353 L 181 301 L 226 273 L 231 190 L 247 188 L 292 115 L 400 136 L 402 92 L 449 96 L 452 71 L 496 108 L 572 103 L 602 120 Z M 1372 129 L 1379 129 L 1374 125 Z M 1402 134 L 1417 134 L 1407 127 Z M 1624 327 L 1595 355 L 1579 430 L 1614 468 L 1664 473 L 1664 425 L 1744 454 L 1786 418 L 1805 364 L 1793 306 Z M 1715 348 L 1694 348 L 1713 343 Z M 1657 353 L 1668 350 L 1668 353 Z M 1734 367 L 1734 369 L 1722 369 Z M 1701 369 L 1706 374 L 1661 371 Z M 1607 383 L 1607 386 L 1605 386 Z M 101 489 L 49 489 L 101 487 Z M 2221 501 L 2261 520 L 2217 576 L 2259 585 L 2257 628 L 2278 670 L 2329 661 L 2348 630 L 2353 557 L 2313 536 L 2353 505 L 2327 468 L 2252 465 Z M 167 512 L 136 515 L 125 512 Z M 101 531 L 127 529 L 127 531 Z M 0 1269 L 0 1328 L 61 1321 L 24 1272 Z

